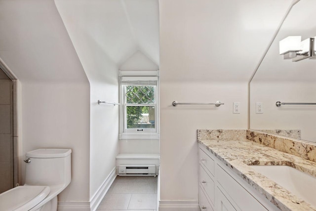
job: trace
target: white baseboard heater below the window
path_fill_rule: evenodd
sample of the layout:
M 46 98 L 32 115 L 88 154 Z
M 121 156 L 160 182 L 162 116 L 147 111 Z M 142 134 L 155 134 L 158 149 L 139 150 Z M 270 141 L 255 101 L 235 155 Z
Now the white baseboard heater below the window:
M 156 176 L 155 165 L 121 165 L 118 167 L 119 176 Z

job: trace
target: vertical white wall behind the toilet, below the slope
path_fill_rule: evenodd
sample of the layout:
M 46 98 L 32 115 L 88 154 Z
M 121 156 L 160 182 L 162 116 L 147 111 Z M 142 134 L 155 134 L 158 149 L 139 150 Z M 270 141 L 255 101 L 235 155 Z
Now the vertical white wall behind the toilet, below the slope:
M 72 181 L 59 202 L 88 201 L 88 100 L 87 84 L 22 83 L 23 154 L 37 148 L 73 151 Z

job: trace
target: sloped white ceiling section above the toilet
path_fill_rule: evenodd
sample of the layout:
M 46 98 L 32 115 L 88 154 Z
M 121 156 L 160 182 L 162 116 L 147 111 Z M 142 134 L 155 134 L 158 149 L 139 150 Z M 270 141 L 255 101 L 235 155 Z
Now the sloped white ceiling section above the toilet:
M 53 0 L 0 0 L 0 58 L 22 83 L 88 84 Z

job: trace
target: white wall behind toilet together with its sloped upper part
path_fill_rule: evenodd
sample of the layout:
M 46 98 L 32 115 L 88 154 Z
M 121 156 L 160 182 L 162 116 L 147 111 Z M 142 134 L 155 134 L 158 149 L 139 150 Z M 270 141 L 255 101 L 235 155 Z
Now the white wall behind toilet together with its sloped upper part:
M 0 57 L 19 80 L 21 156 L 71 148 L 72 182 L 58 200 L 89 201 L 89 83 L 55 3 L 0 0 L 0 14 Z

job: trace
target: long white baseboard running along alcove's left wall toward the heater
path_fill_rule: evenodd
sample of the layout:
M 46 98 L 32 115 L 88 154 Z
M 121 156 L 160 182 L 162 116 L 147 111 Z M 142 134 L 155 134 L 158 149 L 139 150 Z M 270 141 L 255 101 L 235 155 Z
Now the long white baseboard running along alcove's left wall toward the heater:
M 111 187 L 112 183 L 114 182 L 115 178 L 117 177 L 116 169 L 117 169 L 116 167 L 114 169 L 112 169 L 111 173 L 104 180 L 101 187 L 97 190 L 97 192 L 90 199 L 91 211 L 95 211 L 98 208 L 98 206 L 100 205 L 105 194 L 108 192 L 109 188 Z

